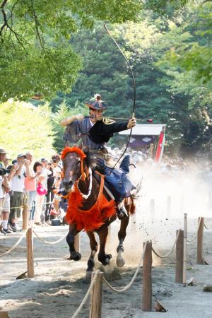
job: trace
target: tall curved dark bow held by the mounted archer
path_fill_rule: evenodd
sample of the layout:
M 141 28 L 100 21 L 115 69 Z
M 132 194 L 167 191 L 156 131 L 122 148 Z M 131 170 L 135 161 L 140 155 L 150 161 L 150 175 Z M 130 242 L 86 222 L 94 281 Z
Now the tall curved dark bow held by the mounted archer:
M 133 102 L 132 114 L 131 114 L 131 117 L 134 117 L 135 116 L 135 107 L 136 107 L 136 81 L 135 81 L 135 78 L 134 78 L 134 73 L 133 73 L 133 71 L 131 69 L 131 66 L 129 65 L 129 61 L 126 59 L 126 57 L 125 57 L 124 53 L 122 52 L 122 49 L 119 47 L 117 41 L 114 40 L 114 38 L 112 37 L 112 35 L 111 35 L 110 31 L 108 30 L 107 25 L 105 23 L 104 23 L 104 27 L 105 27 L 105 30 L 107 31 L 108 35 L 110 35 L 110 37 L 112 38 L 114 44 L 118 47 L 119 51 L 122 53 L 122 56 L 124 57 L 127 66 L 129 67 L 129 70 L 130 70 L 130 73 L 131 73 L 131 77 L 132 77 L 132 81 L 133 81 L 133 87 L 134 87 L 134 102 Z M 122 159 L 124 153 L 126 153 L 126 149 L 128 148 L 129 141 L 131 139 L 131 132 L 132 132 L 132 128 L 130 129 L 129 139 L 128 139 L 127 143 L 126 143 L 126 148 L 124 149 L 124 151 L 123 151 L 122 155 L 120 156 L 120 158 L 117 160 L 117 162 L 112 167 L 112 170 L 114 169 L 114 167 L 116 167 L 117 163 L 119 163 L 119 161 Z M 112 172 L 112 170 L 111 170 L 111 172 Z

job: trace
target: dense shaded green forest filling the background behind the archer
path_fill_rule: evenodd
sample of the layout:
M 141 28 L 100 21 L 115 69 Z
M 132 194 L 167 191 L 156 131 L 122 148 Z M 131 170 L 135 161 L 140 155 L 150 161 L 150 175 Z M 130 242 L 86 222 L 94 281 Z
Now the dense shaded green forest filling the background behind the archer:
M 146 8 L 136 22 L 109 25 L 134 71 L 136 117 L 167 124 L 165 151 L 169 155 L 184 158 L 208 155 L 210 158 L 211 8 L 210 1 L 204 5 L 190 1 L 177 10 L 169 6 L 163 13 L 160 7 L 154 11 Z M 57 90 L 57 94 L 49 95 L 48 103 L 47 100 L 28 100 L 35 107 L 45 107 L 41 125 L 43 120 L 45 124 L 48 122 L 50 143 L 57 151 L 64 144 L 60 120 L 78 112 L 86 114 L 84 102 L 95 93 L 100 93 L 110 106 L 106 116 L 129 118 L 132 108 L 129 69 L 103 23 L 98 21 L 92 28 L 78 28 L 71 34 L 69 44 L 81 61 L 78 67 L 81 71 L 75 83 L 70 83 L 70 93 Z M 66 58 L 69 59 L 69 54 Z M 0 141 L 4 143 L 4 138 L 0 137 Z M 116 137 L 112 145 L 123 146 L 123 142 L 121 137 Z

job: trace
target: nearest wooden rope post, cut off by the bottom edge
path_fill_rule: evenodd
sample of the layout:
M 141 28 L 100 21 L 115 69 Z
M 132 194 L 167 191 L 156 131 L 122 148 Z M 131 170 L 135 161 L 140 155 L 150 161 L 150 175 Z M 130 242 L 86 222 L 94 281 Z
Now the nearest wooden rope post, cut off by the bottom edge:
M 95 272 L 92 273 L 92 280 L 95 276 Z M 90 293 L 90 314 L 89 318 L 101 318 L 102 317 L 102 278 L 103 273 L 98 273 L 93 289 Z

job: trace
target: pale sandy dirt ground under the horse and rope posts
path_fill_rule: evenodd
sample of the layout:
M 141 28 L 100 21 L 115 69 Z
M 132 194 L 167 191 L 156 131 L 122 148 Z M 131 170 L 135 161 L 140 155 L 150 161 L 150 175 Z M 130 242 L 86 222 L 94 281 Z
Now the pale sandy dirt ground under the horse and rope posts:
M 208 222 L 208 225 L 212 228 L 212 221 Z M 36 232 L 49 241 L 57 240 L 66 231 L 67 227 L 36 229 Z M 192 236 L 192 233 L 189 234 Z M 1 237 L 0 251 L 4 252 L 11 247 L 20 236 L 21 232 Z M 112 242 L 114 240 L 117 241 L 116 234 L 112 236 Z M 126 243 L 126 266 L 117 269 L 113 259 L 112 264 L 104 269 L 105 276 L 116 287 L 129 283 L 134 274 L 142 249 L 143 232 L 129 233 L 127 240 L 129 243 Z M 212 260 L 211 243 L 212 231 L 206 230 L 204 248 L 208 261 Z M 112 254 L 115 255 L 114 245 L 108 249 L 110 251 L 112 249 Z M 26 270 L 25 240 L 11 254 L 0 258 L 0 307 L 8 310 L 12 318 L 71 317 L 89 286 L 89 282 L 84 278 L 86 260 L 90 252 L 86 234 L 81 233 L 83 258 L 79 262 L 64 259 L 69 253 L 66 240 L 50 246 L 35 237 L 34 252 L 36 267 L 33 279 L 25 278 L 18 281 L 15 279 L 18 274 Z M 163 302 L 168 312 L 162 315 L 168 318 L 211 318 L 212 293 L 204 293 L 202 288 L 204 284 L 212 285 L 212 265 L 196 265 L 196 241 L 188 246 L 188 260 L 187 276 L 194 277 L 195 285 L 183 288 L 182 285 L 175 283 L 175 252 L 163 261 L 153 257 L 153 304 L 155 298 Z M 97 268 L 102 269 L 102 266 L 98 263 Z M 102 318 L 156 317 L 160 314 L 141 311 L 141 276 L 140 272 L 132 288 L 122 294 L 113 293 L 105 285 L 103 286 Z M 87 303 L 79 317 L 88 317 L 88 307 Z

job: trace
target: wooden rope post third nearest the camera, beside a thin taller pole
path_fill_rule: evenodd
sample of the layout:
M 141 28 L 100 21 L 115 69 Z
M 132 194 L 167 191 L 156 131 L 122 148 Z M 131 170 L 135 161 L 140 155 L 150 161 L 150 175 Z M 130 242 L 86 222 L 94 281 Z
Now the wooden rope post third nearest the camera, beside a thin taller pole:
M 183 230 L 177 230 L 175 283 L 183 283 Z

